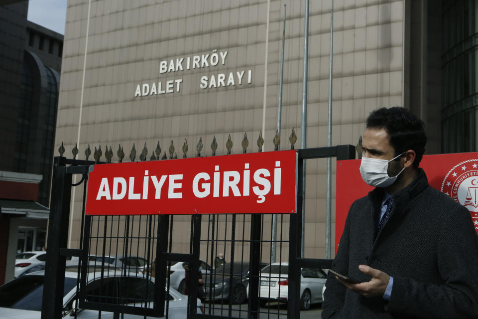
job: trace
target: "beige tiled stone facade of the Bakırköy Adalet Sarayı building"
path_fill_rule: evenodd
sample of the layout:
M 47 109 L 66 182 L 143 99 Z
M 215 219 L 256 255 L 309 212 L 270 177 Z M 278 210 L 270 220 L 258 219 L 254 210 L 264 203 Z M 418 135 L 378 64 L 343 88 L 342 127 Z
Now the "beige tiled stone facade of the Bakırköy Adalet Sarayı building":
M 265 93 L 265 151 L 272 151 L 277 123 L 283 4 L 287 4 L 281 149 L 296 129 L 300 145 L 302 104 L 303 0 L 271 0 Z M 367 114 L 378 107 L 402 105 L 403 1 L 336 0 L 334 8 L 332 144 L 357 144 Z M 310 1 L 307 147 L 327 146 L 330 1 Z M 92 0 L 86 72 L 88 0 L 69 0 L 63 50 L 56 149 L 67 156 L 78 139 L 80 158 L 90 144 L 105 150 L 118 145 L 125 159 L 133 143 L 146 143 L 148 159 L 159 141 L 167 151 L 173 141 L 178 157 L 184 140 L 188 157 L 202 137 L 203 155 L 225 154 L 231 134 L 233 154 L 248 152 L 262 129 L 267 0 Z M 160 73 L 160 61 L 228 52 L 224 65 Z M 184 63 L 183 63 L 184 67 Z M 251 70 L 251 83 L 200 88 L 202 76 Z M 84 76 L 84 91 L 82 80 Z M 134 97 L 138 84 L 182 79 L 180 91 Z M 335 171 L 335 161 L 333 162 Z M 335 175 L 333 176 L 333 215 Z M 307 162 L 306 257 L 325 256 L 326 160 Z M 81 191 L 75 191 L 71 246 L 79 241 Z M 333 216 L 333 222 L 335 217 Z M 175 217 L 174 245 L 189 250 L 189 217 Z M 287 224 L 285 225 L 287 226 Z M 333 229 L 335 224 L 333 223 Z M 247 228 L 247 227 L 246 227 Z M 332 244 L 334 247 L 333 231 Z M 229 258 L 228 258 L 229 259 Z

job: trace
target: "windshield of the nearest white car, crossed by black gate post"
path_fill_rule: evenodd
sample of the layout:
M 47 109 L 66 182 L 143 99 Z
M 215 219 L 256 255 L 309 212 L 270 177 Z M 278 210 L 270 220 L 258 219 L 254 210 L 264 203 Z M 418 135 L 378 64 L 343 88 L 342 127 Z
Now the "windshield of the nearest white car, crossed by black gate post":
M 41 311 L 44 276 L 22 276 L 0 287 L 0 307 Z M 63 296 L 76 286 L 76 278 L 65 278 Z

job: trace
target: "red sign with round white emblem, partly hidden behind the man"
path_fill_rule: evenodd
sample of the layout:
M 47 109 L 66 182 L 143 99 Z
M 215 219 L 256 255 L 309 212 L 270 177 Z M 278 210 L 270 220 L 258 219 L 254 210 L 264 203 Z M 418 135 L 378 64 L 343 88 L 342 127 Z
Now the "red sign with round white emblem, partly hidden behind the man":
M 336 252 L 350 206 L 373 189 L 362 180 L 359 167 L 360 160 L 337 161 Z M 425 170 L 430 186 L 468 208 L 478 233 L 478 154 L 425 155 L 420 167 Z

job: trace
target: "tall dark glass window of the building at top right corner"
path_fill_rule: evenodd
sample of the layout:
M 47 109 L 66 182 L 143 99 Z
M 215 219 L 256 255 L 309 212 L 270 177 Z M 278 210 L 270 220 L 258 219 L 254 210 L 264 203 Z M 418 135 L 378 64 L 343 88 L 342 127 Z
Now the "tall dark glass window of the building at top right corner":
M 442 2 L 442 152 L 478 150 L 478 4 Z

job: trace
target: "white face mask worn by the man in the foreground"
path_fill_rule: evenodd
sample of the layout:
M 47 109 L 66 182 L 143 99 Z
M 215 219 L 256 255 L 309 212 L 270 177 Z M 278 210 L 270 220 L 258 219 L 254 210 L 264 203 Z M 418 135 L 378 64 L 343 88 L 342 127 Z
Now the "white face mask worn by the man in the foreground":
M 391 160 L 362 158 L 360 162 L 360 174 L 362 175 L 363 181 L 375 187 L 388 187 L 393 184 L 405 167 L 403 167 L 396 176 L 390 177 L 388 176 L 388 163 L 401 157 L 404 153 L 405 152 Z

